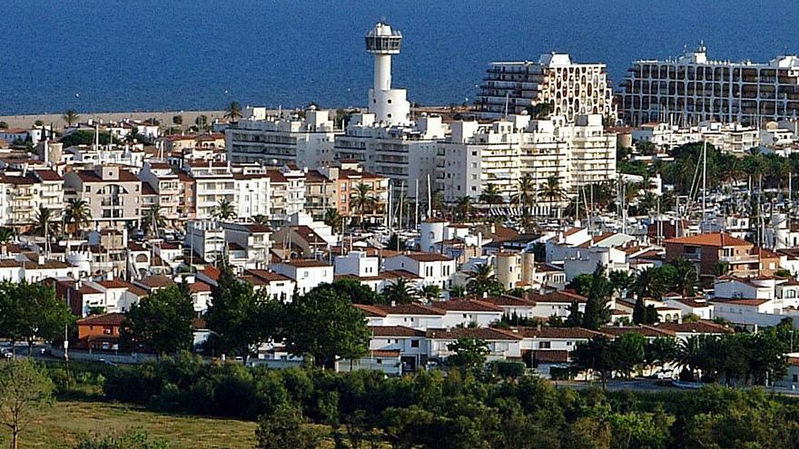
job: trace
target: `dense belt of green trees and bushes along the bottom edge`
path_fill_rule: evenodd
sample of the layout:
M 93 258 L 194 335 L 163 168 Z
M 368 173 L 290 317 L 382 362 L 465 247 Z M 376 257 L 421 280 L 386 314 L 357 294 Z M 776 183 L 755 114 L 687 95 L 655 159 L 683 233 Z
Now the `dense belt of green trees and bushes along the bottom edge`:
M 105 377 L 107 400 L 257 419 L 259 448 L 318 447 L 321 439 L 343 448 L 416 449 L 799 444 L 799 406 L 760 390 L 605 393 L 472 369 L 387 378 L 369 371 L 209 365 L 188 354 L 110 367 Z

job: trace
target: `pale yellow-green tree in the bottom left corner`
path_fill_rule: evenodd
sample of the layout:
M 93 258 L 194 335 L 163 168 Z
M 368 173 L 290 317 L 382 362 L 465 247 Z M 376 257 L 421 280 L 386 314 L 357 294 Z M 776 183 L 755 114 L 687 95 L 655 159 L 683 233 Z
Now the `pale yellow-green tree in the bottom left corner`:
M 32 360 L 0 363 L 0 425 L 11 432 L 11 449 L 18 448 L 20 434 L 52 404 L 52 392 L 53 382 Z

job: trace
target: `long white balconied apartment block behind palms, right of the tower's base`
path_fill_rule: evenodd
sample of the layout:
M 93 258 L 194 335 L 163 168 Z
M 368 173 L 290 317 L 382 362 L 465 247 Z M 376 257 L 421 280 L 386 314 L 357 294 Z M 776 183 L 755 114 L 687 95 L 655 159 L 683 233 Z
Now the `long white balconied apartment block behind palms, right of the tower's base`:
M 600 115 L 531 121 L 523 112 L 488 124 L 455 122 L 451 129 L 439 152 L 444 200 L 478 199 L 488 185 L 509 200 L 525 176 L 536 190 L 555 177 L 567 191 L 616 177 L 616 136 L 604 131 Z

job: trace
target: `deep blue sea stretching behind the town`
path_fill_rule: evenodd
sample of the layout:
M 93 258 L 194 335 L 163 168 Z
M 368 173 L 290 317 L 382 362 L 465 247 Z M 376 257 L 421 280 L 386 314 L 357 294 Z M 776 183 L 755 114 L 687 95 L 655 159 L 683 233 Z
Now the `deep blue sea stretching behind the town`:
M 3 0 L 0 113 L 365 103 L 363 34 L 405 36 L 393 83 L 422 104 L 469 102 L 495 60 L 549 51 L 607 63 L 704 40 L 718 59 L 799 53 L 797 0 Z

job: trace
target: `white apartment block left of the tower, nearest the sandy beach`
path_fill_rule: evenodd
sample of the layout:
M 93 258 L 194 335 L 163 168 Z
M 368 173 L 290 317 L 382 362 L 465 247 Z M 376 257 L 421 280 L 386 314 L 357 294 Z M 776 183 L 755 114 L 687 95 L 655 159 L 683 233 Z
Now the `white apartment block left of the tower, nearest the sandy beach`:
M 303 115 L 268 116 L 266 108 L 247 107 L 244 117 L 225 130 L 228 160 L 317 168 L 333 161 L 333 141 L 341 130 L 329 111 L 311 106 Z

